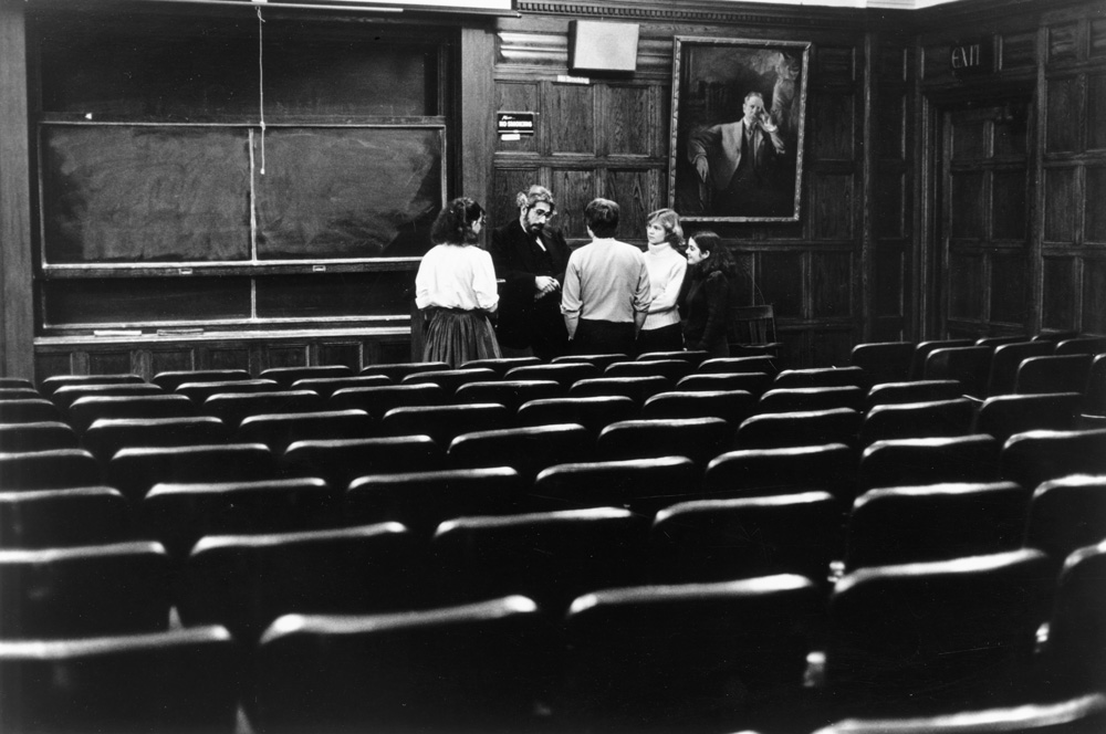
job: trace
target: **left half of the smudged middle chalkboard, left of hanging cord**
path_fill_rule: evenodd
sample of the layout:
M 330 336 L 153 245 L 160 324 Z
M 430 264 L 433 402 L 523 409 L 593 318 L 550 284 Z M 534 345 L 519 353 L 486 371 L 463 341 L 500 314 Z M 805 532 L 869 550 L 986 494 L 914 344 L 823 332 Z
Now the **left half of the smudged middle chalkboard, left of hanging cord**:
M 42 128 L 46 263 L 250 258 L 249 132 Z

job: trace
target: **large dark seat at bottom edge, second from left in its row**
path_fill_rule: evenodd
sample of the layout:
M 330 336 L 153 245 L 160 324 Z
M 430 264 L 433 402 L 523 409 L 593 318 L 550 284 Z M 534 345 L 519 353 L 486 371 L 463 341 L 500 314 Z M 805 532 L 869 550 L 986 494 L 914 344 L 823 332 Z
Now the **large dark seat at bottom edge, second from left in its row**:
M 553 675 L 553 633 L 509 596 L 397 614 L 290 615 L 255 652 L 258 731 L 529 732 Z

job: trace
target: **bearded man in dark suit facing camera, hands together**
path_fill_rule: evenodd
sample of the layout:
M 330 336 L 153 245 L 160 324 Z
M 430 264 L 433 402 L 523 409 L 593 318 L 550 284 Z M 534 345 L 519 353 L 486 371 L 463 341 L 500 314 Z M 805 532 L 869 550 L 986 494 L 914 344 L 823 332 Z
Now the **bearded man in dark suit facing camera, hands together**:
M 568 264 L 564 235 L 549 227 L 555 203 L 543 186 L 531 186 L 515 197 L 519 218 L 494 230 L 491 259 L 499 291 L 500 346 L 532 349 L 541 359 L 563 355 L 568 345 L 561 316 L 561 286 Z

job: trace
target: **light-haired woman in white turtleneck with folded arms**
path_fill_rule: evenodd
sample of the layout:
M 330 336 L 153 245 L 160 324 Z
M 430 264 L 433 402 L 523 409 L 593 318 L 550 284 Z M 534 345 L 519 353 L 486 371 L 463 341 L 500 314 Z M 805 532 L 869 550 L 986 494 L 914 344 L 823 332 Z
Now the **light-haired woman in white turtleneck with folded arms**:
M 679 352 L 684 348 L 684 332 L 676 306 L 688 269 L 679 214 L 671 209 L 658 209 L 649 214 L 646 239 L 649 249 L 645 253 L 645 264 L 649 270 L 653 302 L 637 335 L 637 350 L 639 354 Z

